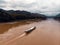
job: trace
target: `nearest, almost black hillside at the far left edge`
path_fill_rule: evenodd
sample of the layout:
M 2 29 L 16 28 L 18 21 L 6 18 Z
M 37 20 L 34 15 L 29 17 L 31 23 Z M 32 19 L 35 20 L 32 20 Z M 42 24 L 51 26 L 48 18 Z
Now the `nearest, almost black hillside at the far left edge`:
M 5 10 L 0 9 L 0 22 L 12 21 L 12 16 L 8 14 Z

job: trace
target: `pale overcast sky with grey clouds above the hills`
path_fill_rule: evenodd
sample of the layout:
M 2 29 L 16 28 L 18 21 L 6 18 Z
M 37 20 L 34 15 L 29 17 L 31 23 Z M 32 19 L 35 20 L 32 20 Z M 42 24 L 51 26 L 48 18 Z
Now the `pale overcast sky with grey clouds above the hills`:
M 60 0 L 0 0 L 0 8 L 54 16 L 60 13 Z

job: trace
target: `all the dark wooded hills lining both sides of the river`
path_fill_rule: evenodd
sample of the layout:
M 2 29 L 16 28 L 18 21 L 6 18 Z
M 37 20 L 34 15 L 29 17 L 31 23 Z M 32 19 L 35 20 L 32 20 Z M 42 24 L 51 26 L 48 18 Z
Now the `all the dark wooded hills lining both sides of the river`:
M 28 20 L 28 19 L 46 20 L 47 17 L 48 16 L 45 16 L 44 14 L 31 13 L 28 11 L 0 9 L 0 22 L 12 22 L 12 21 Z M 60 14 L 54 16 L 53 18 L 55 20 L 60 20 Z

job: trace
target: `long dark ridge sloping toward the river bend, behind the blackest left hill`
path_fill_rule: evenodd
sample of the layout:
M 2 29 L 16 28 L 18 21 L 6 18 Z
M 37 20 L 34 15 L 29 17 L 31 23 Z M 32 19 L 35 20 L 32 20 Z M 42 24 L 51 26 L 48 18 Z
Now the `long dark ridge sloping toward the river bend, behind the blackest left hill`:
M 45 20 L 46 16 L 38 13 L 30 13 L 27 11 L 20 11 L 20 10 L 9 10 L 7 11 L 11 16 L 13 16 L 15 19 L 34 19 L 34 18 L 40 18 Z

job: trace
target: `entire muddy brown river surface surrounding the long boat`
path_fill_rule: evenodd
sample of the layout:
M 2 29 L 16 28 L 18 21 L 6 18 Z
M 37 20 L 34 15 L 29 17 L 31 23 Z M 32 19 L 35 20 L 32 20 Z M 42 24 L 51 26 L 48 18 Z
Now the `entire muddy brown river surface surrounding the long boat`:
M 22 34 L 32 26 L 36 26 L 32 33 Z M 48 19 L 0 24 L 0 45 L 60 45 L 60 22 Z

